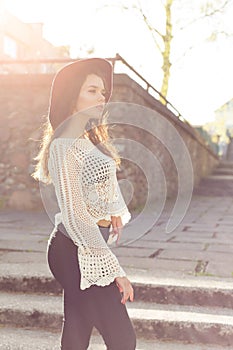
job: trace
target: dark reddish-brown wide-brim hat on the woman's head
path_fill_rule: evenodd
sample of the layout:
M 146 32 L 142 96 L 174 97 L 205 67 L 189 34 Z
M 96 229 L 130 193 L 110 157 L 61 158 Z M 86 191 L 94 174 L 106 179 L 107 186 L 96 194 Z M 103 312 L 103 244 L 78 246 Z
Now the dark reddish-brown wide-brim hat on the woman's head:
M 108 102 L 112 95 L 112 85 L 113 85 L 113 66 L 112 63 L 104 58 L 87 58 L 80 59 L 66 66 L 62 67 L 55 75 L 51 91 L 50 91 L 50 101 L 49 101 L 49 121 L 53 127 L 56 129 L 59 124 L 61 124 L 68 115 L 64 116 L 59 113 L 62 110 L 63 104 L 67 103 L 64 96 L 69 94 L 69 87 L 72 85 L 72 80 L 77 80 L 80 74 L 91 74 L 93 71 L 102 72 L 105 80 L 105 101 Z

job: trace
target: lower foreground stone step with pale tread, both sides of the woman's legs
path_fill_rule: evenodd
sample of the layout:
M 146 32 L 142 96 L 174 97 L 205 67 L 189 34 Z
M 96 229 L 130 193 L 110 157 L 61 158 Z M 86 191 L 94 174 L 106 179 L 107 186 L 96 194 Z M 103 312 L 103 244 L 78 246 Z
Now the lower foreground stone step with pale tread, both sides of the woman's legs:
M 61 296 L 0 293 L 0 305 L 2 325 L 61 329 Z M 229 309 L 175 308 L 143 302 L 127 307 L 139 338 L 222 346 L 233 343 L 233 313 Z

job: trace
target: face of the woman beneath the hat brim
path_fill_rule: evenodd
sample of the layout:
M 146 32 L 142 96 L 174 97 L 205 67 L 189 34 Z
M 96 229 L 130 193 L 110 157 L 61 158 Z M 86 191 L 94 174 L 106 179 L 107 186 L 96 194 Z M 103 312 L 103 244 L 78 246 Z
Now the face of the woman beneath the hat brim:
M 90 74 L 84 81 L 76 104 L 76 111 L 96 107 L 98 114 L 102 114 L 105 106 L 105 87 L 103 80 L 95 74 Z

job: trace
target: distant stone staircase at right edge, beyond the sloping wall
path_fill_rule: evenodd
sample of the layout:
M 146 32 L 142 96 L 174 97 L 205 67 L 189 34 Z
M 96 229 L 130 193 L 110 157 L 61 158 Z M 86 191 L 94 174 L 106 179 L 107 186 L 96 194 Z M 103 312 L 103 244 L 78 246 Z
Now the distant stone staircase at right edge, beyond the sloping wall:
M 214 172 L 203 178 L 194 194 L 203 196 L 233 195 L 233 162 L 222 161 Z

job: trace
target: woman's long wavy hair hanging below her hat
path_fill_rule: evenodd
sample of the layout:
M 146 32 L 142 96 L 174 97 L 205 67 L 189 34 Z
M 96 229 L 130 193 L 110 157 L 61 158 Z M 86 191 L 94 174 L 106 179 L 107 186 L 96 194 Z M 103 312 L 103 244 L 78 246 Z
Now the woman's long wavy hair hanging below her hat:
M 117 168 L 120 167 L 120 156 L 113 145 L 111 137 L 109 135 L 109 126 L 107 125 L 108 114 L 105 113 L 102 117 L 102 122 L 100 125 L 92 125 L 89 130 L 85 130 L 85 137 L 89 138 L 90 141 L 96 145 L 103 153 L 112 157 L 117 165 Z M 111 128 L 113 128 L 112 126 Z M 51 142 L 54 139 L 54 130 L 47 119 L 43 124 L 43 136 L 40 141 L 40 148 L 38 155 L 34 158 L 36 161 L 35 171 L 32 173 L 32 177 L 35 180 L 43 181 L 45 183 L 50 183 L 50 175 L 48 170 L 48 159 L 49 159 L 49 147 Z

